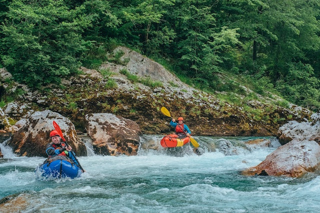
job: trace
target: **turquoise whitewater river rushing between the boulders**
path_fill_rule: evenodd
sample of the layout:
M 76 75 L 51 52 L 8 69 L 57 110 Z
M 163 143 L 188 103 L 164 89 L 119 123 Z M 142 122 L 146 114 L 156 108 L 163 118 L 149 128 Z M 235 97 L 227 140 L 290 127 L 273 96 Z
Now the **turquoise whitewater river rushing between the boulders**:
M 144 136 L 142 143 L 161 136 Z M 289 213 L 320 211 L 320 178 L 257 176 L 240 172 L 255 166 L 279 146 L 245 148 L 255 138 L 224 138 L 233 155 L 215 150 L 221 138 L 194 137 L 203 154 L 190 147 L 167 153 L 141 149 L 137 156 L 78 157 L 86 173 L 69 180 L 38 180 L 40 157 L 15 157 L 0 144 L 0 199 L 21 200 L 20 212 L 115 213 Z M 234 154 L 235 153 L 235 154 Z M 176 157 L 180 156 L 180 157 Z M 3 199 L 4 198 L 4 199 Z M 11 200 L 10 200 L 11 201 Z M 0 212 L 7 211 L 10 201 Z M 12 203 L 13 205 L 13 203 Z M 13 211 L 14 212 L 14 211 Z

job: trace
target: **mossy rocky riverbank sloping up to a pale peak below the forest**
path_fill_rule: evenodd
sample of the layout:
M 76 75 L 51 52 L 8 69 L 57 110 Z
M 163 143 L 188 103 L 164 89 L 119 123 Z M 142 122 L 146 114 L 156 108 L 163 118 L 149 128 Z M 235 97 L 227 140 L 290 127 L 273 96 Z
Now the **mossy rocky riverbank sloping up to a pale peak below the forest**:
M 115 58 L 119 52 L 122 56 Z M 85 115 L 112 113 L 136 122 L 143 134 L 165 134 L 171 131 L 170 119 L 160 112 L 165 106 L 172 117 L 184 117 L 194 135 L 275 136 L 289 120 L 306 121 L 311 115 L 293 104 L 276 106 L 281 100 L 276 95 L 263 97 L 244 86 L 243 91 L 257 99 L 245 107 L 231 105 L 182 83 L 160 64 L 125 47 L 114 49 L 108 58 L 113 62 L 97 70 L 81 67 L 80 75 L 36 90 L 13 82 L 11 74 L 0 69 L 1 97 L 15 97 L 1 111 L 0 129 L 17 131 L 33 112 L 49 109 L 70 119 L 79 132 L 86 132 Z

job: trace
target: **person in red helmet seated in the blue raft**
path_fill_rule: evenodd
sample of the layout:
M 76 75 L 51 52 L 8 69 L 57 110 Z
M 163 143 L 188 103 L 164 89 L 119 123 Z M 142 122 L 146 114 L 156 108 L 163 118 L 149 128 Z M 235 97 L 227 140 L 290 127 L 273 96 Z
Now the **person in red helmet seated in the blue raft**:
M 46 146 L 45 153 L 48 155 L 48 158 L 52 158 L 54 156 L 64 156 L 70 158 L 75 165 L 78 166 L 74 156 L 72 155 L 71 146 L 66 146 L 65 143 L 61 143 L 60 136 L 56 130 L 50 132 L 51 143 Z

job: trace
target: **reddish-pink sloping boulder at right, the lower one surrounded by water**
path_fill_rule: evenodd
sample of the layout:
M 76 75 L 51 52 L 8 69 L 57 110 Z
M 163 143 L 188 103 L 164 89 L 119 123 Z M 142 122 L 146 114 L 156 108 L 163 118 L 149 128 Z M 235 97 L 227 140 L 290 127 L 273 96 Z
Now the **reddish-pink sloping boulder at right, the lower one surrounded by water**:
M 315 141 L 292 140 L 242 174 L 300 177 L 306 172 L 315 171 L 320 164 L 319 159 L 320 146 Z

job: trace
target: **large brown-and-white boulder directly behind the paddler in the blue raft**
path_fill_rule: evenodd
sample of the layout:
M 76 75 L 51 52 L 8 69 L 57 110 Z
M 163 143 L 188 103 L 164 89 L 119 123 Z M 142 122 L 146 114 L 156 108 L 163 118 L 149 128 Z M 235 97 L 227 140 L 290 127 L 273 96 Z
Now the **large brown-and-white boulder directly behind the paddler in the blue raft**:
M 77 156 L 86 156 L 84 144 L 77 138 L 74 125 L 62 115 L 44 110 L 34 112 L 26 120 L 26 123 L 12 135 L 7 145 L 13 148 L 13 152 L 19 156 L 47 157 L 45 148 L 50 143 L 49 133 L 54 130 L 52 122 L 55 121 L 68 145 Z

